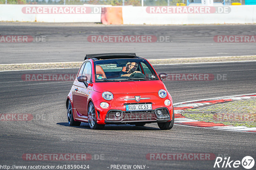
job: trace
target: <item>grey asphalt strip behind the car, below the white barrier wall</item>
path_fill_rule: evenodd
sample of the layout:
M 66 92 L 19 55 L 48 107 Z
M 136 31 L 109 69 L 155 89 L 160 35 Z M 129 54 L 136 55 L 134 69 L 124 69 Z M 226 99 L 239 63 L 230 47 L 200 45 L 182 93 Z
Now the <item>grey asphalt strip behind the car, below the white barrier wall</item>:
M 72 26 L 73 25 L 73 26 Z M 0 23 L 1 35 L 31 35 L 45 42 L 0 43 L 0 64 L 81 61 L 91 53 L 131 53 L 146 59 L 255 55 L 255 43 L 216 43 L 216 35 L 255 35 L 255 25 L 121 25 Z M 90 35 L 152 35 L 167 42 L 95 43 Z M 36 39 L 34 39 L 36 41 Z M 39 40 L 39 39 L 38 39 Z

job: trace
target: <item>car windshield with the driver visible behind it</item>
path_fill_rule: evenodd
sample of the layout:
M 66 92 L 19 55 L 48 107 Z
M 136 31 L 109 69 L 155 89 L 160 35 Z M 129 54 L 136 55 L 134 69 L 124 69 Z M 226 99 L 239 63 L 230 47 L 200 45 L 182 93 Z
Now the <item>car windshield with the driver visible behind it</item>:
M 94 61 L 95 81 L 159 80 L 147 60 L 112 59 Z

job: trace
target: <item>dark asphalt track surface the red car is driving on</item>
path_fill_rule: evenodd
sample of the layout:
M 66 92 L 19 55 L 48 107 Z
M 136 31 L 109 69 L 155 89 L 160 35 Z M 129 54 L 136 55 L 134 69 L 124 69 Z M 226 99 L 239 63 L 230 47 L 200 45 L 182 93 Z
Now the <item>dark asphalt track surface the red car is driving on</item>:
M 31 56 L 28 60 L 31 61 Z M 256 62 L 164 65 L 154 68 L 158 73 L 205 73 L 213 74 L 215 79 L 218 79 L 217 74 L 225 76 L 224 79 L 212 81 L 164 81 L 174 103 L 255 93 L 256 89 Z M 0 122 L 1 165 L 83 164 L 89 165 L 92 170 L 110 169 L 111 164 L 146 165 L 145 169 L 148 170 L 223 169 L 213 168 L 215 160 L 148 160 L 146 155 L 213 153 L 216 157 L 225 154 L 231 160 L 240 161 L 244 156 L 256 156 L 255 133 L 179 125 L 174 125 L 172 130 L 161 131 L 157 124 L 146 124 L 144 127 L 106 125 L 104 130 L 98 131 L 90 130 L 85 123 L 70 127 L 65 101 L 72 81 L 21 79 L 23 74 L 43 73 L 76 74 L 77 69 L 0 72 L 0 113 L 30 113 L 34 117 L 31 121 Z M 22 159 L 26 153 L 90 153 L 92 160 L 28 161 Z M 104 158 L 94 160 L 95 154 L 96 158 L 104 154 Z M 244 168 L 240 165 L 236 169 Z

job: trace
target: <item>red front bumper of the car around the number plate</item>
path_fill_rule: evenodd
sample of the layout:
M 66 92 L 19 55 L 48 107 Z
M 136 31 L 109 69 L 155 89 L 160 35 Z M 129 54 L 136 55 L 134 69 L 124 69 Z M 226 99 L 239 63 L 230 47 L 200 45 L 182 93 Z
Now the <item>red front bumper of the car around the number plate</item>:
M 135 102 L 135 100 L 125 100 L 133 98 L 134 96 L 141 96 L 140 102 Z M 111 101 L 106 101 L 104 99 L 99 99 L 94 101 L 94 107 L 97 111 L 97 123 L 98 124 L 123 124 L 123 123 L 134 123 L 134 122 L 168 122 L 172 119 L 172 104 L 170 106 L 165 106 L 164 100 L 169 99 L 172 102 L 172 97 L 168 94 L 166 98 L 160 99 L 158 93 L 147 93 L 145 95 L 141 94 L 115 94 L 114 99 Z M 101 102 L 109 103 L 109 107 L 102 109 L 100 107 Z M 147 111 L 125 111 L 126 105 L 129 104 L 152 104 L 152 110 Z M 155 110 L 165 108 L 168 116 L 157 117 Z M 109 119 L 109 113 L 111 111 L 121 111 L 121 119 Z M 151 114 L 151 115 L 150 115 Z M 113 113 L 112 113 L 113 115 Z

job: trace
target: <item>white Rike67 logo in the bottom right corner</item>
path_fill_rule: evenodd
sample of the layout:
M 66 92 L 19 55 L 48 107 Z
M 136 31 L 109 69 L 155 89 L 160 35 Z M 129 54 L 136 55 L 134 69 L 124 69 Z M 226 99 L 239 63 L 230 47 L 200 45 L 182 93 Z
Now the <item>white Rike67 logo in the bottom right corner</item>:
M 240 166 L 243 166 L 245 169 L 251 169 L 254 166 L 254 159 L 251 156 L 245 156 L 242 161 L 240 160 L 231 160 L 230 157 L 225 157 L 222 159 L 222 157 L 217 157 L 214 163 L 214 168 L 238 168 Z

